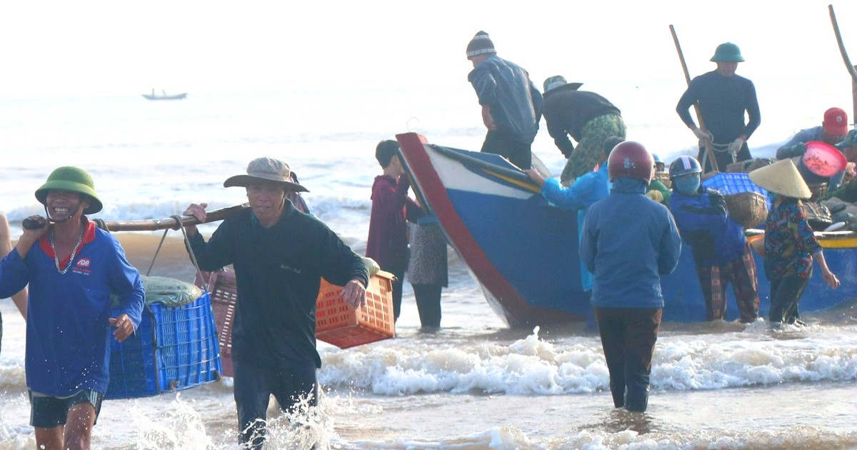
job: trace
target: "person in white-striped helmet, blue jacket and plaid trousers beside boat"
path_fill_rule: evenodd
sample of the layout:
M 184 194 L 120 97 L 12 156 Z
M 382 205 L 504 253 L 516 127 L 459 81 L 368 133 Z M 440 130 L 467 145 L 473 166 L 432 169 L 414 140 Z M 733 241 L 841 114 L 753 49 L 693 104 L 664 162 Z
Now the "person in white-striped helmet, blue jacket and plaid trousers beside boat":
M 705 298 L 705 320 L 726 318 L 726 286 L 731 281 L 740 320 L 756 321 L 756 263 L 744 227 L 729 217 L 723 195 L 700 185 L 701 172 L 699 161 L 691 156 L 681 156 L 669 165 L 674 190 L 669 209 L 681 231 L 681 240 L 691 246 Z

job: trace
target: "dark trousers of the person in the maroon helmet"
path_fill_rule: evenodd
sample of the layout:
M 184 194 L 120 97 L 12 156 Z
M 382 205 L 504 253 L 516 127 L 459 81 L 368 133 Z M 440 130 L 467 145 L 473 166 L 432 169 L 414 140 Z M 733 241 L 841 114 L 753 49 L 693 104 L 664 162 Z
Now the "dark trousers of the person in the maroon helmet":
M 595 308 L 613 405 L 644 412 L 662 308 Z

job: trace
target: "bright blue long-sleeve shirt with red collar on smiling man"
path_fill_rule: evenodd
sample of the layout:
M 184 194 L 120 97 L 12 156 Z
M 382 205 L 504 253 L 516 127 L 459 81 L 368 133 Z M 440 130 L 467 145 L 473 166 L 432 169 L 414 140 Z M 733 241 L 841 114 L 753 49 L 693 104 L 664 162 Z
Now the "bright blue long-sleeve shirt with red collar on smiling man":
M 0 298 L 21 291 L 27 297 L 27 387 L 69 397 L 83 389 L 106 393 L 113 339 L 111 294 L 120 314 L 140 325 L 145 296 L 140 273 L 125 259 L 115 237 L 86 221 L 86 232 L 69 271 L 59 273 L 47 237 L 21 259 L 13 249 L 0 261 Z

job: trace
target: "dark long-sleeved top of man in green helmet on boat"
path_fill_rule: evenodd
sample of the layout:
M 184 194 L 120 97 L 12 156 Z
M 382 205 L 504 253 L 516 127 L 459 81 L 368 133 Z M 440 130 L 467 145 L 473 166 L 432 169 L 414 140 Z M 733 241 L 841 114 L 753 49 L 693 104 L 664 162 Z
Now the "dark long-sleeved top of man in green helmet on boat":
M 699 102 L 705 128 L 714 135 L 714 143 L 728 144 L 740 135 L 750 138 L 762 123 L 756 87 L 740 75 L 723 76 L 716 70 L 699 75 L 679 99 L 675 111 L 687 126 L 695 125 L 690 107 Z M 749 121 L 744 122 L 746 111 Z

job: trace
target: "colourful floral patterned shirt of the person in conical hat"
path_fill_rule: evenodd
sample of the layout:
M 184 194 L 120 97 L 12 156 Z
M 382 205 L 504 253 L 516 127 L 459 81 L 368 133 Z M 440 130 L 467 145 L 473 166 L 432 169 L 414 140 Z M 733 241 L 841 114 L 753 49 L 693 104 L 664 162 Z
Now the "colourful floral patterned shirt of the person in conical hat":
M 806 221 L 803 204 L 786 199 L 772 207 L 764 222 L 764 272 L 768 279 L 812 276 L 812 255 L 821 245 Z

